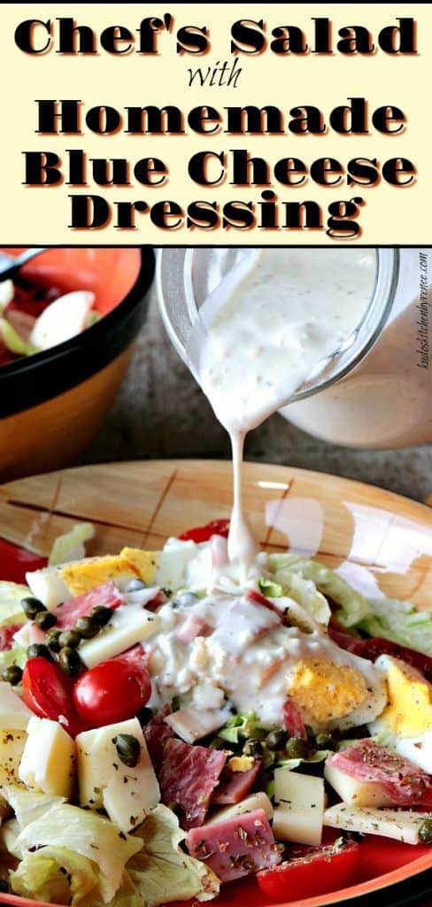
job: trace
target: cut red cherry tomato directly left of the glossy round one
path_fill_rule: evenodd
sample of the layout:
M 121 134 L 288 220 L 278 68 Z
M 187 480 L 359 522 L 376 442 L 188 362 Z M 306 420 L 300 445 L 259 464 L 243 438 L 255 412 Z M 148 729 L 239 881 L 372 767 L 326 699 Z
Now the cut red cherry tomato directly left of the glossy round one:
M 25 705 L 40 718 L 59 721 L 71 736 L 85 727 L 73 707 L 72 680 L 62 668 L 46 658 L 29 658 L 23 671 L 23 698 Z

